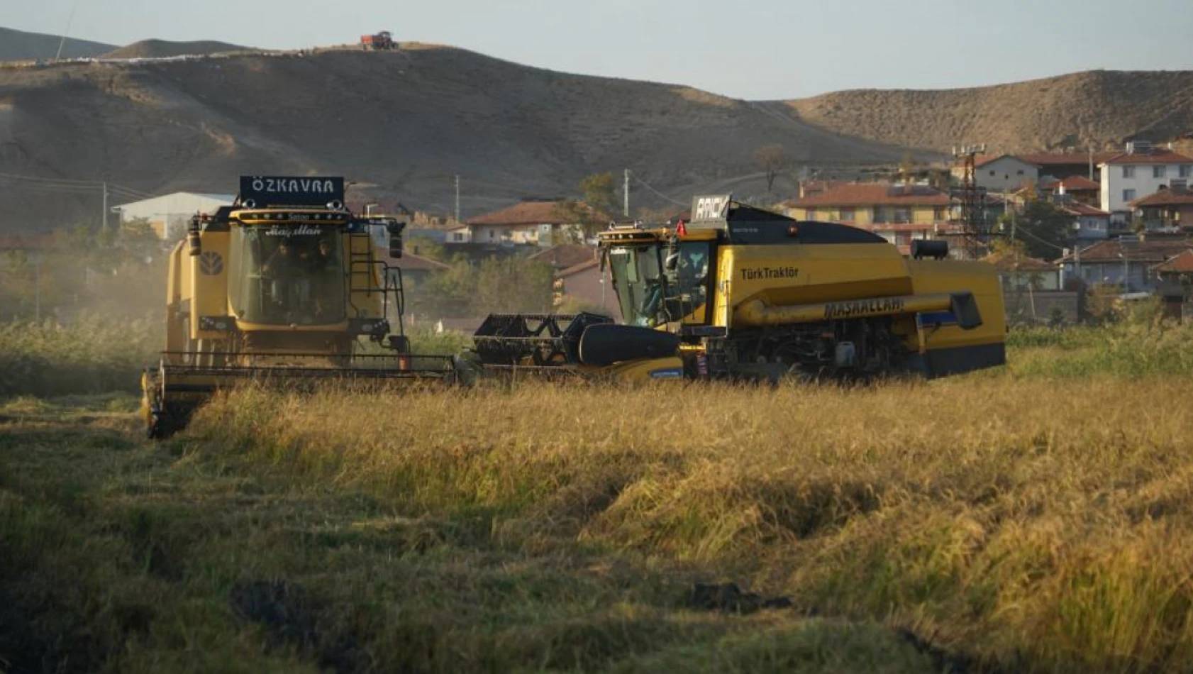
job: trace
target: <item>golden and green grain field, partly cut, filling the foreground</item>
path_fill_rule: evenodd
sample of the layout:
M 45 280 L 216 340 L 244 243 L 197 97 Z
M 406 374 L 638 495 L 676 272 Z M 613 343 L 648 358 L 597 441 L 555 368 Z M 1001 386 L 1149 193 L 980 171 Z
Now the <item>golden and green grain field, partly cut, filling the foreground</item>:
M 0 670 L 1193 669 L 1193 391 L 1039 373 L 1083 348 L 859 388 L 245 389 L 161 445 L 126 396 L 13 398 Z

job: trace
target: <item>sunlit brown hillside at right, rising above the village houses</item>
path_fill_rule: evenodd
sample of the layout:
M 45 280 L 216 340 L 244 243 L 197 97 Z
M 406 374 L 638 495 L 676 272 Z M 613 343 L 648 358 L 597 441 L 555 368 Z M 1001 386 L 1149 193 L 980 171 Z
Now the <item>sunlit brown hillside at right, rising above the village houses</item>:
M 1102 148 L 1136 136 L 1167 141 L 1193 129 L 1193 70 L 1092 70 L 991 87 L 858 89 L 785 103 L 810 124 L 898 146 Z

